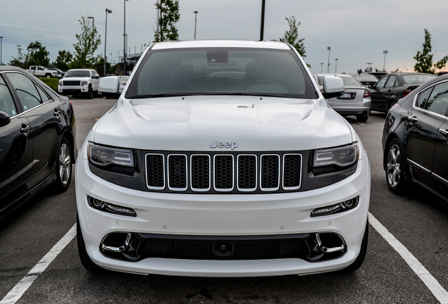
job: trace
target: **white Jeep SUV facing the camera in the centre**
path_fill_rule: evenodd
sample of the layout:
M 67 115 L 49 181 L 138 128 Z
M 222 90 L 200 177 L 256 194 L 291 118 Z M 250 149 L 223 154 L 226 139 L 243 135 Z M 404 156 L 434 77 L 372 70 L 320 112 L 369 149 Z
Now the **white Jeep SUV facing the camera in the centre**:
M 340 77 L 325 77 L 321 93 L 281 42 L 160 42 L 142 56 L 80 148 L 87 270 L 250 277 L 361 266 L 370 167 L 325 101 L 344 91 Z

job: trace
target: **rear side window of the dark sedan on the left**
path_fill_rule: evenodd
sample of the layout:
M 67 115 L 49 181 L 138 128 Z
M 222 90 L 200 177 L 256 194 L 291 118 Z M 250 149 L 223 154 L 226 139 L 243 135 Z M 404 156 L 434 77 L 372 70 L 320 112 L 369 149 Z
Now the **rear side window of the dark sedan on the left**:
M 17 93 L 23 110 L 30 110 L 35 106 L 39 106 L 44 101 L 48 101 L 48 97 L 42 99 L 42 95 L 46 96 L 42 89 L 38 90 L 34 82 L 30 78 L 18 72 L 8 72 L 8 79 L 13 84 L 15 93 Z M 40 92 L 39 92 L 40 91 Z

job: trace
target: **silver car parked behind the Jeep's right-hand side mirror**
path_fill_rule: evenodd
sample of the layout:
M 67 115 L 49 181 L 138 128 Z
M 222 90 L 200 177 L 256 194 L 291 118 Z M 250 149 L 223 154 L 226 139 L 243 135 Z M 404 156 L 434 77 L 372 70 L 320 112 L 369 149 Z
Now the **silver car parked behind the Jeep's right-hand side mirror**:
M 341 115 L 355 115 L 359 122 L 366 122 L 371 112 L 370 91 L 348 74 L 316 74 L 314 78 L 323 87 L 323 79 L 328 75 L 340 77 L 344 82 L 344 94 L 327 99 L 328 105 Z

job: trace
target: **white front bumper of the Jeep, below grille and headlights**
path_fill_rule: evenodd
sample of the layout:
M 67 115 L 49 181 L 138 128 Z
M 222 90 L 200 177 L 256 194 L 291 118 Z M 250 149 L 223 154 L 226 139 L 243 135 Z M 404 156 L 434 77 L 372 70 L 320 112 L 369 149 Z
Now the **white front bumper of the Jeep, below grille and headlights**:
M 287 194 L 166 194 L 127 189 L 93 175 L 87 160 L 78 158 L 76 198 L 80 227 L 89 258 L 109 270 L 137 274 L 170 274 L 200 277 L 251 277 L 313 274 L 340 270 L 359 255 L 367 223 L 370 198 L 370 167 L 359 160 L 347 179 L 311 191 Z M 132 208 L 137 217 L 114 215 L 91 208 L 87 196 Z M 359 196 L 356 208 L 344 213 L 310 217 L 311 211 Z M 330 233 L 343 239 L 345 250 L 338 258 L 312 261 L 301 258 L 257 260 L 192 260 L 144 258 L 118 260 L 101 252 L 105 236 L 150 234 L 180 238 L 256 239 L 297 234 Z M 103 250 L 104 252 L 104 250 Z

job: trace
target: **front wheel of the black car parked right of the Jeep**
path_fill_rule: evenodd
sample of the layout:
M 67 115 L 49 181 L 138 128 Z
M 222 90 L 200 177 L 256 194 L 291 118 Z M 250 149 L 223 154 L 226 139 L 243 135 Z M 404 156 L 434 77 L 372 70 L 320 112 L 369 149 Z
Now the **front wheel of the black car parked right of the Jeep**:
M 404 179 L 404 151 L 397 139 L 394 139 L 387 146 L 386 156 L 386 182 L 390 191 L 394 194 L 401 194 L 406 188 Z

